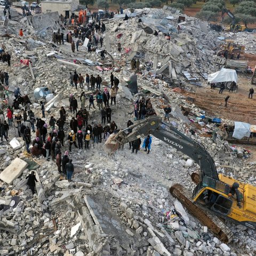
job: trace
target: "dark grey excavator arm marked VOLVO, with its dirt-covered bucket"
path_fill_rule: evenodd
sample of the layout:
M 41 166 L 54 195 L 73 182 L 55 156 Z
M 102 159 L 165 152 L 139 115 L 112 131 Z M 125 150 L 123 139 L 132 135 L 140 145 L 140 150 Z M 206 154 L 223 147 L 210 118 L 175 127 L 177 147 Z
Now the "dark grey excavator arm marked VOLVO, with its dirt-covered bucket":
M 135 139 L 146 137 L 148 134 L 154 135 L 159 140 L 167 143 L 173 148 L 193 159 L 201 168 L 202 176 L 206 175 L 215 180 L 219 180 L 214 161 L 204 146 L 162 121 L 161 117 L 149 116 L 112 135 L 104 145 L 105 151 L 114 153 L 119 146 L 131 142 Z

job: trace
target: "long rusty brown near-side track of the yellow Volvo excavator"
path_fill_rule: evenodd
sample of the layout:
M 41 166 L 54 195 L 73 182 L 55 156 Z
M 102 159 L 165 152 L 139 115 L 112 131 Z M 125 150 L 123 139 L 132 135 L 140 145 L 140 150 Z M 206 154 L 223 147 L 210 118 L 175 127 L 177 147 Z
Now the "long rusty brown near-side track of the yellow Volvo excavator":
M 191 197 L 191 191 L 180 184 L 174 184 L 170 193 L 176 197 L 204 226 L 207 226 L 222 242 L 228 243 L 233 236 L 232 231 L 210 210 L 201 205 L 196 205 Z

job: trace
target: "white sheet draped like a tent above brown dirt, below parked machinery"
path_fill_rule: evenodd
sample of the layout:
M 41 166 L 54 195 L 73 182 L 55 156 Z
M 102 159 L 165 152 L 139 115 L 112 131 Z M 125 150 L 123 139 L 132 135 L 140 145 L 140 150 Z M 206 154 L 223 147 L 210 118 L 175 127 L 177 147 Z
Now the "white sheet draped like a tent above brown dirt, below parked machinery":
M 221 83 L 235 81 L 237 84 L 237 74 L 236 70 L 222 68 L 220 71 L 208 75 L 208 82 L 210 83 Z

